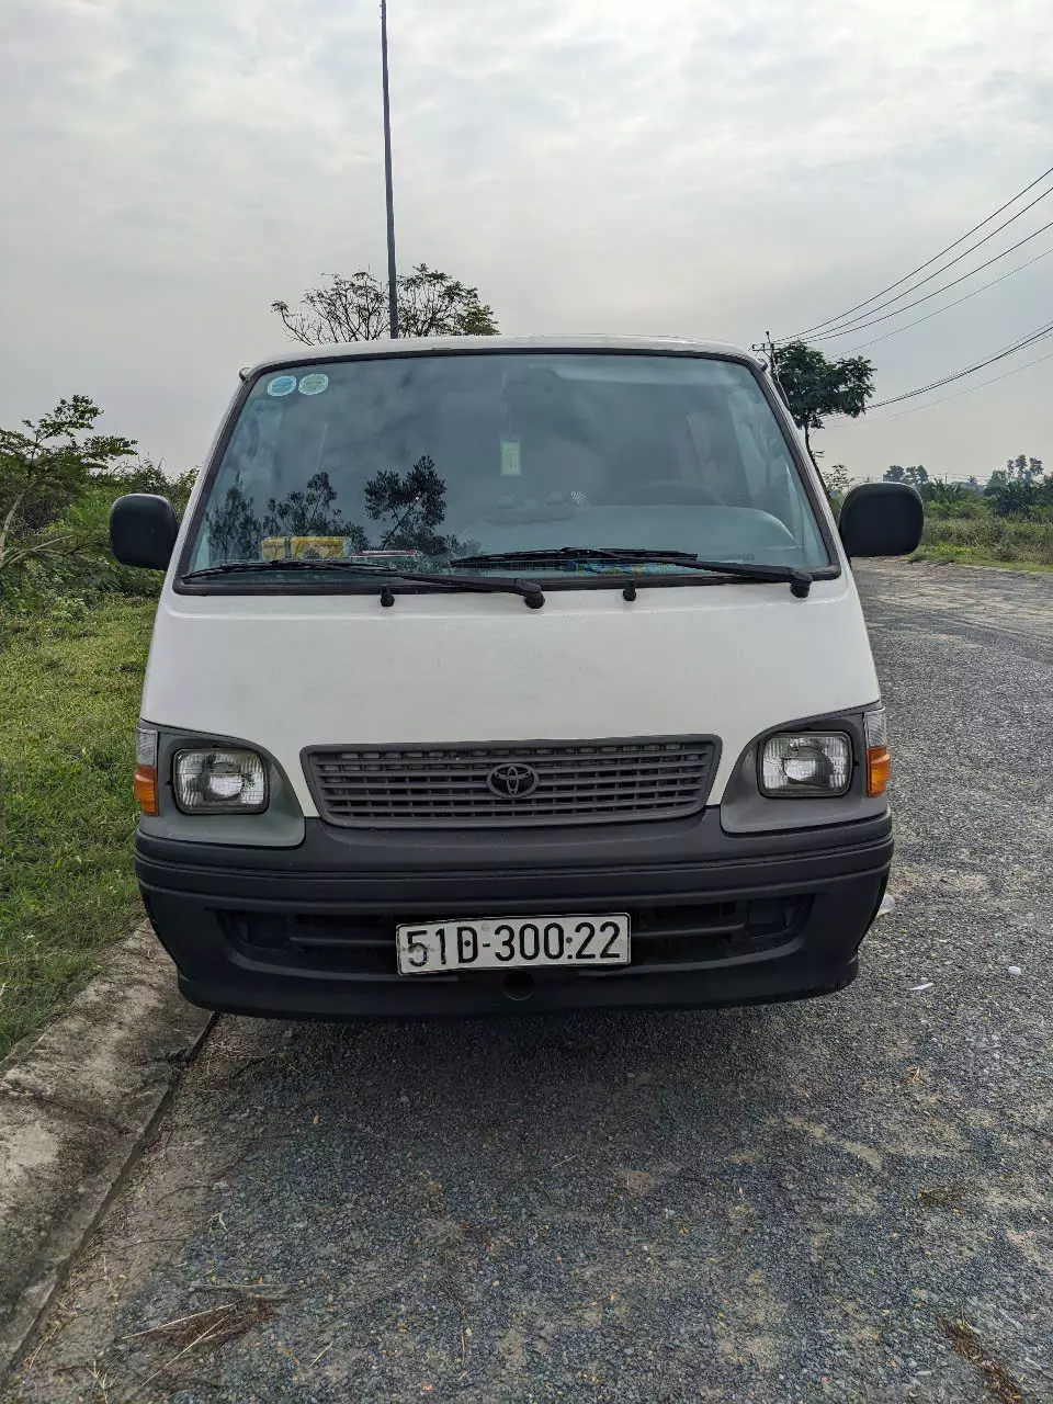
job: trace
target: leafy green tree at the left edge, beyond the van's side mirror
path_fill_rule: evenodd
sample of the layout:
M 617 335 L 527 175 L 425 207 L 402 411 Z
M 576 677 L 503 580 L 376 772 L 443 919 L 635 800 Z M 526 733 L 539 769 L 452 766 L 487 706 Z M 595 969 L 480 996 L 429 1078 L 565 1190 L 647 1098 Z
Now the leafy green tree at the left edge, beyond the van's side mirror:
M 93 434 L 102 411 L 87 395 L 59 400 L 51 414 L 0 430 L 0 571 L 34 556 L 73 555 L 86 545 L 74 525 L 53 526 L 101 475 L 135 452 L 135 441 Z

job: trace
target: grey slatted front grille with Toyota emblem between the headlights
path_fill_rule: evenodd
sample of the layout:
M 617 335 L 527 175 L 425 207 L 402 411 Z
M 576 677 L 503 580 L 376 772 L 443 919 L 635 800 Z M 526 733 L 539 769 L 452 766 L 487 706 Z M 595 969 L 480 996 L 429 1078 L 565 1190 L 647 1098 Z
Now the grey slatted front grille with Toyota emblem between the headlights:
M 597 824 L 702 809 L 715 737 L 493 746 L 319 747 L 303 768 L 319 814 L 369 828 Z

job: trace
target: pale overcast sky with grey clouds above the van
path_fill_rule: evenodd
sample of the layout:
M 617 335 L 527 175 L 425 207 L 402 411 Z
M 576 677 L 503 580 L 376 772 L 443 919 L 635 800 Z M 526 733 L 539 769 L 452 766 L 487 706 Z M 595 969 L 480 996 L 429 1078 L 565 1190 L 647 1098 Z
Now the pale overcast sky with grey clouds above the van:
M 400 265 L 476 285 L 510 334 L 789 337 L 1053 166 L 1049 0 L 389 0 L 389 31 Z M 286 344 L 271 302 L 385 272 L 375 0 L 3 0 L 0 129 L 0 424 L 87 393 L 199 463 L 239 368 Z M 1053 256 L 859 354 L 885 399 L 1050 309 Z M 1053 359 L 958 393 L 1050 351 L 816 446 L 854 477 L 1053 465 Z

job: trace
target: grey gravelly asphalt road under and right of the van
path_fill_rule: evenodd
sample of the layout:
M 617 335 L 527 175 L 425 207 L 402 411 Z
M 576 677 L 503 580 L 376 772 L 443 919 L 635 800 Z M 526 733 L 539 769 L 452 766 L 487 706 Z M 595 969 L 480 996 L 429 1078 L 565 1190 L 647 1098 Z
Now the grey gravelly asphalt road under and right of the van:
M 861 585 L 899 908 L 849 990 L 223 1019 L 8 1404 L 1053 1400 L 1053 577 Z

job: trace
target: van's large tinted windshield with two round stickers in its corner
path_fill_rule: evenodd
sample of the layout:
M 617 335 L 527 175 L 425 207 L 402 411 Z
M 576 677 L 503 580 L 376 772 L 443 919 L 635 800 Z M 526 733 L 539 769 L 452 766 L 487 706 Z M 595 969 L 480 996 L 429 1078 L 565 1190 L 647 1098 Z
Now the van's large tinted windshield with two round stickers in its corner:
M 337 557 L 434 571 L 456 570 L 459 557 L 560 546 L 830 564 L 747 366 L 483 352 L 265 372 L 206 487 L 187 569 Z M 570 557 L 529 573 L 629 569 L 689 566 Z M 312 573 L 272 578 L 295 590 Z

